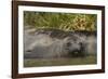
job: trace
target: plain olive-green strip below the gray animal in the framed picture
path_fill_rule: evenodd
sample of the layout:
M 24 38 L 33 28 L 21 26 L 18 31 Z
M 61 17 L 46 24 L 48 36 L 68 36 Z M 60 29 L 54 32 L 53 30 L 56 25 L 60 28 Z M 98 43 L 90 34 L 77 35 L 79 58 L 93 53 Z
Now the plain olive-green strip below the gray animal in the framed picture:
M 24 67 L 62 66 L 62 65 L 89 65 L 96 64 L 96 56 L 72 58 L 31 58 L 25 60 Z

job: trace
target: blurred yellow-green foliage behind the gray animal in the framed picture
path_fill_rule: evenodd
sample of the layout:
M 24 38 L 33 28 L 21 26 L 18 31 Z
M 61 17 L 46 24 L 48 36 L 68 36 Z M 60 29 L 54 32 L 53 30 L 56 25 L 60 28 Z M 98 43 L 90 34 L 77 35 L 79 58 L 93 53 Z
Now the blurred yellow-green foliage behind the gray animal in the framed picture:
M 81 13 L 24 12 L 25 28 L 56 28 L 62 30 L 96 30 L 97 15 Z

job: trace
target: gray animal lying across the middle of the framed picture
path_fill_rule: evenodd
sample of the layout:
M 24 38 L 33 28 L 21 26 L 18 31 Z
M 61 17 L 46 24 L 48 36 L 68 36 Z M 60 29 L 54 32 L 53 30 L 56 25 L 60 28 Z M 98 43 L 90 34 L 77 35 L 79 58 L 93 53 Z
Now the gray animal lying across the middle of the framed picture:
M 25 58 L 75 57 L 96 54 L 96 35 L 87 31 L 27 29 L 24 31 Z

